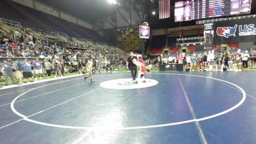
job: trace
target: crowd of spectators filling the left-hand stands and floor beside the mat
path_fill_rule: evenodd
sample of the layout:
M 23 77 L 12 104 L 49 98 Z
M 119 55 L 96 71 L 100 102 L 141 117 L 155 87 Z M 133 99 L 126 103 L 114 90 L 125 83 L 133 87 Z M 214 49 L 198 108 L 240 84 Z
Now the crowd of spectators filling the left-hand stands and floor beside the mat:
M 8 78 L 13 84 L 38 81 L 42 77 L 60 76 L 65 73 L 84 73 L 88 58 L 93 57 L 93 72 L 115 70 L 125 65 L 125 52 L 108 49 L 104 45 L 78 44 L 76 42 L 55 42 L 46 44 L 42 38 L 18 35 L 17 41 L 1 35 L 0 40 L 0 81 L 8 85 Z M 40 40 L 40 47 L 36 45 Z

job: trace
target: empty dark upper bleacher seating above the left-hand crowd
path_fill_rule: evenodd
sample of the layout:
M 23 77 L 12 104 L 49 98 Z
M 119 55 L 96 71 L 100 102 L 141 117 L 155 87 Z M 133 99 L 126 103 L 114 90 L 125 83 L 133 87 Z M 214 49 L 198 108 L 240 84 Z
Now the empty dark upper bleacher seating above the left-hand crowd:
M 84 28 L 83 26 L 79 26 L 67 20 L 54 17 L 38 10 L 34 10 L 33 8 L 23 6 L 22 4 L 14 3 L 12 1 L 7 2 L 4 0 L 0 0 L 0 6 L 0 17 L 20 22 L 20 24 L 22 24 L 22 26 L 24 27 L 45 31 L 47 29 L 45 29 L 44 26 L 41 26 L 42 24 L 45 24 L 46 26 L 51 28 L 52 31 L 67 33 L 67 35 L 70 37 L 87 38 L 93 40 L 94 42 L 100 42 L 105 44 L 108 43 L 105 38 L 95 33 L 95 31 L 93 31 L 92 29 Z M 35 19 L 29 17 L 28 15 L 32 15 L 37 20 L 42 22 L 42 24 L 40 24 L 40 22 L 36 22 Z

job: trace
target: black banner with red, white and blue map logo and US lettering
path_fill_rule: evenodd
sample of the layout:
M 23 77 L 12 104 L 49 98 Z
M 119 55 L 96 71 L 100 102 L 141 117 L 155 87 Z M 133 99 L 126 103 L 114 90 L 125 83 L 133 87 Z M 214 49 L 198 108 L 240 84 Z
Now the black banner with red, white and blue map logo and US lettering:
M 256 41 L 256 17 L 214 22 L 214 44 Z

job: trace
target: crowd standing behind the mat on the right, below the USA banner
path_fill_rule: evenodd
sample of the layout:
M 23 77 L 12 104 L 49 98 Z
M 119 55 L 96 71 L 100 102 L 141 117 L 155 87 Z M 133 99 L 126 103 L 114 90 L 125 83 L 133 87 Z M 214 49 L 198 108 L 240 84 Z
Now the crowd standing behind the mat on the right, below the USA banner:
M 180 63 L 187 71 L 214 71 L 214 70 L 246 70 L 256 67 L 256 51 L 241 51 L 238 49 L 233 52 L 182 52 L 177 56 L 163 56 L 150 60 L 157 64 Z

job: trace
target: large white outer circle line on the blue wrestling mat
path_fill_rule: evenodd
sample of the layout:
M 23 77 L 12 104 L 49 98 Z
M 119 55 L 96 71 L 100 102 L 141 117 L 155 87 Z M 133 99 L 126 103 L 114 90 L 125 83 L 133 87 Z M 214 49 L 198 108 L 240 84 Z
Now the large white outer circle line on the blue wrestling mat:
M 200 122 L 200 121 L 203 121 L 203 120 L 209 120 L 211 118 L 215 118 L 217 116 L 221 116 L 221 115 L 225 115 L 226 113 L 230 112 L 230 111 L 233 111 L 234 109 L 238 108 L 239 106 L 241 106 L 241 104 L 243 104 L 243 102 L 245 101 L 246 99 L 246 93 L 244 92 L 243 88 L 241 88 L 240 86 L 237 86 L 236 84 L 234 83 L 230 83 L 228 81 L 224 81 L 222 79 L 217 79 L 217 78 L 214 78 L 214 77 L 205 77 L 205 76 L 196 76 L 196 75 L 189 75 L 189 74 L 164 74 L 164 73 L 152 73 L 152 74 L 163 74 L 163 75 L 178 75 L 178 76 L 192 76 L 192 77 L 204 77 L 204 78 L 208 78 L 208 79 L 214 79 L 216 81 L 223 81 L 224 83 L 228 83 L 230 85 L 233 85 L 233 86 L 236 86 L 239 90 L 241 90 L 241 92 L 243 93 L 243 98 L 240 100 L 240 102 L 238 102 L 235 106 L 233 106 L 232 108 L 229 108 L 225 111 L 222 111 L 220 113 L 216 113 L 214 115 L 210 115 L 210 116 L 205 116 L 203 118 L 197 118 L 197 119 L 192 119 L 192 120 L 185 120 L 185 121 L 182 121 L 182 122 L 174 122 L 174 123 L 169 123 L 169 124 L 159 124 L 159 125 L 146 125 L 146 126 L 138 126 L 138 127 L 118 127 L 118 128 L 113 128 L 115 130 L 129 130 L 129 129 L 149 129 L 149 128 L 156 128 L 156 127 L 166 127 L 166 126 L 172 126 L 172 125 L 180 125 L 180 124 L 188 124 L 190 122 Z M 46 85 L 45 85 L 46 86 Z M 40 86 L 38 88 L 41 88 L 41 87 L 44 87 L 44 86 Z M 33 89 L 33 90 L 36 90 L 37 88 Z M 29 90 L 28 92 L 30 92 L 31 90 Z M 27 92 L 25 92 L 27 93 Z M 60 127 L 60 128 L 65 128 L 65 129 L 86 129 L 86 130 L 90 130 L 90 129 L 95 129 L 93 127 L 75 127 L 75 126 L 68 126 L 68 125 L 56 125 L 56 124 L 47 124 L 47 123 L 44 123 L 44 122 L 38 122 L 36 120 L 31 120 L 29 119 L 27 116 L 24 116 L 22 115 L 21 113 L 19 113 L 15 108 L 14 108 L 14 103 L 15 103 L 15 100 L 19 99 L 19 97 L 21 97 L 24 93 L 20 94 L 18 97 L 16 97 L 15 99 L 13 99 L 12 101 L 12 104 L 11 104 L 11 108 L 12 108 L 12 111 L 13 113 L 15 113 L 16 115 L 19 115 L 20 117 L 24 118 L 24 120 L 28 121 L 28 122 L 32 122 L 32 123 L 35 123 L 35 124 L 40 124 L 40 125 L 45 125 L 45 126 L 49 126 L 49 127 Z M 99 129 L 104 129 L 104 127 L 102 128 L 99 128 L 97 127 L 96 128 L 97 130 Z M 109 127 L 108 129 L 106 129 L 107 131 L 109 130 Z

